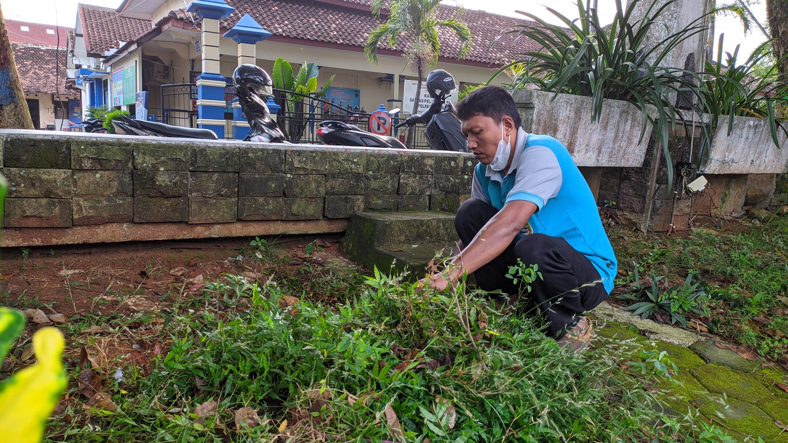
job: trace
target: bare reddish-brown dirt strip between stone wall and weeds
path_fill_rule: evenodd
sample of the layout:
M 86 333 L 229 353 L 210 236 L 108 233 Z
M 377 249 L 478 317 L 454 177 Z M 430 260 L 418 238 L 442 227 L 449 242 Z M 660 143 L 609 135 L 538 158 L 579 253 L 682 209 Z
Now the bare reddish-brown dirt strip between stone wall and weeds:
M 3 248 L 0 305 L 66 318 L 160 312 L 221 274 L 292 277 L 303 262 L 352 266 L 337 251 L 339 238 L 284 236 L 265 258 L 255 257 L 247 238 Z M 307 255 L 312 242 L 321 248 Z

